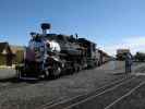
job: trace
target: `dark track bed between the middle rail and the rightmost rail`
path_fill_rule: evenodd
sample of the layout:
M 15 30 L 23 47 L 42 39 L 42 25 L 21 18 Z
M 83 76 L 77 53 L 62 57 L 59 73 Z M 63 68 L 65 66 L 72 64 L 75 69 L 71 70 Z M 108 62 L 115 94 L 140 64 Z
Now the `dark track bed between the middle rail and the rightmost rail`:
M 120 101 L 120 99 L 134 92 L 141 85 L 145 84 L 143 80 L 144 78 L 142 77 L 130 78 L 101 93 L 77 101 L 76 104 L 69 105 L 63 109 L 110 109 L 114 104 Z

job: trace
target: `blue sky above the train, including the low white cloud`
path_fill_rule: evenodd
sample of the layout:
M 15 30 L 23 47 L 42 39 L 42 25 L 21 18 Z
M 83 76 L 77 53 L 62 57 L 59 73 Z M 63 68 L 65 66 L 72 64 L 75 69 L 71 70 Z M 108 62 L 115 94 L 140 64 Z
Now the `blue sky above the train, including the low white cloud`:
M 0 41 L 26 46 L 29 33 L 74 35 L 116 55 L 118 48 L 145 52 L 145 0 L 0 0 Z

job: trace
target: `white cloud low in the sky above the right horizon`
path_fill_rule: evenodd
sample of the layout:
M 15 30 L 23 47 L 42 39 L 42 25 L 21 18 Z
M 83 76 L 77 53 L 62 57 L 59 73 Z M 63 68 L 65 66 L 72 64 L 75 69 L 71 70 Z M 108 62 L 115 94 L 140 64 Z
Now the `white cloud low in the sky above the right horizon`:
M 118 44 L 110 44 L 102 47 L 106 52 L 112 56 L 116 55 L 116 51 L 119 48 L 130 49 L 133 55 L 136 51 L 145 52 L 145 36 L 123 38 Z

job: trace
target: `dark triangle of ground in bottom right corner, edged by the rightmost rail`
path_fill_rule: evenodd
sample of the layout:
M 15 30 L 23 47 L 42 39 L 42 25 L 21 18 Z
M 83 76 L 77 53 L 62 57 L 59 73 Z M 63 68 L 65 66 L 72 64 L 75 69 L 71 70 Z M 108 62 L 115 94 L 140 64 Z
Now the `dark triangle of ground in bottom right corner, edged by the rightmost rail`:
M 142 83 L 130 93 L 117 99 L 109 109 L 145 109 L 145 84 Z

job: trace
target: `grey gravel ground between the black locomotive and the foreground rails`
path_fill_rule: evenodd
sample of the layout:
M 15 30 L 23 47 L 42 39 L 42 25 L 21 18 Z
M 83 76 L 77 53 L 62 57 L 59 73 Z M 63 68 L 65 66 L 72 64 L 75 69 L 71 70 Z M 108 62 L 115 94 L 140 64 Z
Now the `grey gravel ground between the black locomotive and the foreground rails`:
M 21 87 L 3 89 L 0 92 L 0 99 L 2 99 L 0 109 L 35 109 L 51 100 L 57 101 L 85 94 L 122 77 L 123 75 L 110 74 L 112 71 L 121 72 L 121 68 L 106 70 L 104 65 L 104 69 L 86 70 L 53 81 L 27 83 L 28 85 Z

